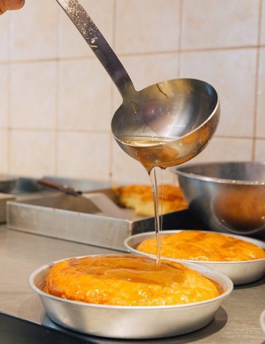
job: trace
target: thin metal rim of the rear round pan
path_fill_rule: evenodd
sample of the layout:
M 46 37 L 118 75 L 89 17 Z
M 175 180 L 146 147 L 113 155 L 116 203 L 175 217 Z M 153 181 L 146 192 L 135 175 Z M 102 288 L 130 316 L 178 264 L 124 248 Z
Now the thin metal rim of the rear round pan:
M 168 235 L 168 234 L 173 234 L 173 233 L 180 233 L 182 231 L 188 231 L 188 230 L 193 230 L 193 229 L 178 229 L 178 230 L 162 230 L 161 232 L 161 235 L 165 234 L 165 235 Z M 262 240 L 259 240 L 259 239 L 255 239 L 255 238 L 252 238 L 252 237 L 246 237 L 246 236 L 242 236 L 242 235 L 237 235 L 237 234 L 232 234 L 232 233 L 220 233 L 220 232 L 216 232 L 214 230 L 199 230 L 200 232 L 202 233 L 217 233 L 217 234 L 220 234 L 220 235 L 228 235 L 230 237 L 235 237 L 237 239 L 242 239 L 244 241 L 248 241 L 248 242 L 251 242 L 252 244 L 255 244 L 259 247 L 262 247 L 264 250 L 265 250 L 265 242 L 262 241 Z M 151 257 L 151 258 L 154 258 L 156 257 L 156 255 L 151 255 L 149 253 L 145 253 L 145 252 L 141 252 L 141 251 L 138 251 L 136 250 L 136 248 L 132 248 L 131 246 L 129 246 L 128 244 L 128 241 L 130 241 L 131 239 L 133 238 L 136 238 L 136 237 L 143 237 L 145 235 L 156 235 L 156 232 L 154 231 L 151 231 L 151 232 L 145 232 L 145 233 L 138 233 L 138 234 L 135 234 L 135 235 L 130 235 L 129 237 L 127 237 L 124 241 L 124 245 L 125 247 L 130 250 L 131 252 L 134 252 L 134 254 L 140 254 L 140 255 L 146 255 L 148 257 Z M 139 253 L 140 252 L 140 253 Z M 242 260 L 242 261 L 204 261 L 204 260 L 190 260 L 190 259 L 182 259 L 182 258 L 173 258 L 173 257 L 164 257 L 164 256 L 161 256 L 160 257 L 161 259 L 173 259 L 173 261 L 184 261 L 187 263 L 192 263 L 192 264 L 204 264 L 204 265 L 210 265 L 210 264 L 216 264 L 216 265 L 223 265 L 225 264 L 226 266 L 227 265 L 235 265 L 235 264 L 254 264 L 256 262 L 260 262 L 260 261 L 265 261 L 265 257 L 264 258 L 259 258 L 259 259 L 251 259 L 251 260 Z

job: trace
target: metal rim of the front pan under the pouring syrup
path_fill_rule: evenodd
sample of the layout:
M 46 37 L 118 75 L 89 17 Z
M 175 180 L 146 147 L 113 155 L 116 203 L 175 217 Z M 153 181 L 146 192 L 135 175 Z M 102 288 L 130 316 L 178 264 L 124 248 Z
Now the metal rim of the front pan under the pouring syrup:
M 101 254 L 102 255 L 102 254 Z M 106 254 L 106 255 L 115 255 L 112 253 Z M 120 253 L 118 253 L 120 255 Z M 126 255 L 126 253 L 121 253 L 121 255 Z M 207 268 L 205 266 L 198 266 L 198 264 L 193 264 L 189 262 L 183 262 L 180 261 L 180 264 L 183 264 L 187 266 L 188 268 L 194 268 L 195 271 L 198 271 L 200 274 L 204 274 L 203 276 L 211 279 L 211 277 L 216 277 L 222 281 L 222 283 L 225 284 L 226 290 L 222 292 L 222 294 L 218 295 L 217 297 L 212 297 L 211 299 L 207 299 L 204 301 L 198 301 L 198 302 L 191 302 L 191 303 L 184 303 L 184 304 L 177 304 L 177 305 L 152 305 L 152 306 L 143 306 L 143 305 L 101 305 L 97 303 L 87 303 L 87 302 L 82 302 L 82 301 L 74 301 L 74 300 L 69 300 L 69 299 L 63 299 L 62 297 L 55 297 L 54 295 L 47 294 L 46 292 L 43 292 L 39 286 L 36 286 L 36 283 L 34 283 L 34 279 L 41 274 L 42 272 L 46 271 L 49 269 L 51 266 L 54 264 L 58 263 L 59 261 L 64 261 L 67 259 L 72 259 L 72 258 L 83 258 L 83 257 L 96 257 L 100 255 L 83 255 L 83 256 L 78 256 L 78 257 L 68 257 L 64 259 L 59 259 L 56 261 L 52 261 L 49 264 L 45 264 L 36 270 L 34 270 L 31 274 L 30 277 L 28 278 L 28 284 L 34 292 L 39 294 L 39 297 L 44 297 L 45 299 L 52 299 L 53 301 L 60 301 L 64 303 L 69 303 L 72 305 L 80 305 L 83 307 L 89 307 L 89 308 L 103 308 L 103 309 L 118 309 L 118 310 L 169 310 L 169 309 L 175 309 L 175 308 L 190 308 L 190 307 L 195 307 L 195 306 L 200 306 L 204 305 L 207 303 L 213 303 L 215 301 L 219 301 L 224 299 L 225 297 L 229 296 L 231 292 L 233 291 L 233 282 L 229 277 L 224 275 L 222 272 L 219 272 L 217 270 L 214 270 L 212 268 Z M 150 257 L 149 257 L 150 258 Z M 202 272 L 200 271 L 202 270 Z M 207 272 L 211 272 L 213 276 L 207 277 L 206 274 Z M 45 280 L 42 281 L 42 284 L 45 282 Z M 218 283 L 218 282 L 215 282 Z M 218 283 L 219 284 L 219 283 Z

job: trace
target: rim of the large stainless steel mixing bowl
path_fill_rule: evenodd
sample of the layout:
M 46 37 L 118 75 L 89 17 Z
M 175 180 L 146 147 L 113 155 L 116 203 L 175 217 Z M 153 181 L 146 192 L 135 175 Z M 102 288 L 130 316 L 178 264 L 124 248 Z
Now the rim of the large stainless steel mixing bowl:
M 257 166 L 264 166 L 265 169 L 265 162 L 254 162 L 254 161 L 223 161 L 223 162 L 202 162 L 202 163 L 195 163 L 195 164 L 186 164 L 185 166 L 175 166 L 171 167 L 171 171 L 177 175 L 180 175 L 181 177 L 185 178 L 191 178 L 191 179 L 196 179 L 196 180 L 202 180 L 204 182 L 212 182 L 212 183 L 218 183 L 218 184 L 231 184 L 231 185 L 252 185 L 252 186 L 260 186 L 263 185 L 265 186 L 265 180 L 264 182 L 259 182 L 259 181 L 251 181 L 251 180 L 233 180 L 233 179 L 227 179 L 227 178 L 217 178 L 217 177 L 209 177 L 206 175 L 201 175 L 197 173 L 192 173 L 192 172 L 186 172 L 183 171 L 186 168 L 193 168 L 193 167 L 198 167 L 198 166 L 224 166 L 224 165 L 229 165 L 229 164 L 252 164 L 257 165 Z

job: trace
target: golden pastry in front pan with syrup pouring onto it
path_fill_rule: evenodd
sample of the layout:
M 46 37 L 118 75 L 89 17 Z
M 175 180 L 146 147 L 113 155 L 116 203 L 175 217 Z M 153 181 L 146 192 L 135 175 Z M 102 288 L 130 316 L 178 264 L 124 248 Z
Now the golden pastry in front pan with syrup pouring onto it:
M 217 297 L 222 290 L 195 270 L 141 255 L 66 259 L 47 273 L 45 292 L 103 305 L 176 305 Z

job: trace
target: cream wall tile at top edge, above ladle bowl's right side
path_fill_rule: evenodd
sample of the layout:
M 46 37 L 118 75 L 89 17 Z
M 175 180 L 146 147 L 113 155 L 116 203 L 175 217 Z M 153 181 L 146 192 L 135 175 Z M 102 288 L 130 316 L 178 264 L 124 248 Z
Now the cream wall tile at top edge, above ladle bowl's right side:
M 184 0 L 182 48 L 257 45 L 259 0 Z

